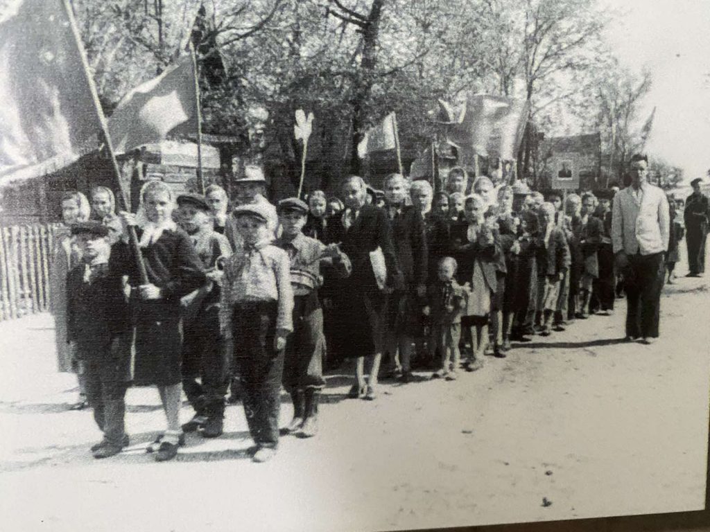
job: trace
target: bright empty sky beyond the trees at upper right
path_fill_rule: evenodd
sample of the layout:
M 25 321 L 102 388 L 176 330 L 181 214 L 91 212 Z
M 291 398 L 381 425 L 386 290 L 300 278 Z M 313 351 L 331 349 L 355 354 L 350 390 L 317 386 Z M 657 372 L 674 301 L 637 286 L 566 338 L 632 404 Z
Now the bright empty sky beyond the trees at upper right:
M 653 76 L 642 120 L 657 108 L 646 146 L 684 170 L 710 170 L 710 0 L 603 0 L 617 11 L 606 39 L 624 65 Z

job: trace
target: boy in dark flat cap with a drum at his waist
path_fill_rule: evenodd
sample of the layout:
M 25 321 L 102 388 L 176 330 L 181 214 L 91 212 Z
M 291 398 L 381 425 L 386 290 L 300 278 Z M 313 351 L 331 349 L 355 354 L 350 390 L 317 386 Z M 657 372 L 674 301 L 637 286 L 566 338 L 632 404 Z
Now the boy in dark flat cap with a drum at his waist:
M 323 279 L 321 265 L 333 267 L 339 277 L 347 277 L 352 269 L 350 260 L 337 245 L 324 245 L 302 233 L 307 214 L 307 204 L 298 198 L 280 201 L 282 233 L 274 242 L 290 257 L 294 294 L 293 334 L 286 342 L 283 371 L 283 386 L 293 401 L 293 420 L 284 432 L 302 438 L 317 433 L 318 401 L 325 387 L 323 311 L 318 297 Z

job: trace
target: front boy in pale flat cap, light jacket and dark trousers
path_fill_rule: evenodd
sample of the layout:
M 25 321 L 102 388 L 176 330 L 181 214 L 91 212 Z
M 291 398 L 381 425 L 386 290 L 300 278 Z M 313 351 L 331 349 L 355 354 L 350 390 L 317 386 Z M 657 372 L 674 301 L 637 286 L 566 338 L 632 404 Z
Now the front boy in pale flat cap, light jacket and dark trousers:
M 234 209 L 244 248 L 224 263 L 220 327 L 234 350 L 254 462 L 273 458 L 286 337 L 293 331 L 288 253 L 271 243 L 268 206 Z

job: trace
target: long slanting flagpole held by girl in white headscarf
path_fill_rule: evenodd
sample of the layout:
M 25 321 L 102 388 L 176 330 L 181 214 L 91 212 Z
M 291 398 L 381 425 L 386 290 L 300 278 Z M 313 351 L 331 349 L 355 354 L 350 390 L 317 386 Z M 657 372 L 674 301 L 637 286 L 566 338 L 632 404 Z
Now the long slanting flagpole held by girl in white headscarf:
M 91 92 L 92 99 L 94 101 L 94 109 L 97 113 L 97 118 L 99 118 L 99 124 L 101 125 L 101 131 L 104 135 L 104 140 L 106 142 L 106 147 L 109 152 L 109 157 L 111 158 L 111 172 L 114 177 L 114 185 L 116 189 L 119 190 L 118 195 L 119 201 L 121 201 L 121 206 L 125 211 L 130 211 L 131 206 L 129 205 L 128 195 L 121 183 L 121 170 L 119 169 L 119 163 L 116 162 L 116 153 L 114 153 L 114 145 L 111 143 L 111 136 L 109 135 L 109 128 L 107 126 L 106 117 L 104 116 L 104 111 L 102 111 L 101 104 L 99 102 L 99 95 L 96 92 L 96 87 L 94 87 L 94 79 L 91 74 L 89 74 L 89 62 L 87 62 L 86 53 L 84 52 L 84 46 L 82 45 L 79 30 L 77 29 L 77 22 L 74 20 L 74 15 L 72 14 L 72 6 L 69 4 L 70 0 L 62 0 L 62 6 L 64 6 L 64 11 L 67 15 L 67 20 L 72 28 L 72 35 L 74 37 L 75 44 L 77 45 L 77 51 L 79 52 L 79 57 L 82 61 L 82 70 L 84 71 L 84 78 L 89 85 L 89 92 Z M 131 250 L 133 251 L 133 256 L 136 257 L 136 263 L 138 265 L 138 275 L 141 280 L 141 284 L 148 284 L 148 271 L 146 270 L 146 264 L 143 262 L 143 254 L 141 253 L 141 248 L 138 247 L 138 235 L 136 235 L 136 228 L 134 226 L 128 227 L 129 232 L 129 244 L 131 245 Z

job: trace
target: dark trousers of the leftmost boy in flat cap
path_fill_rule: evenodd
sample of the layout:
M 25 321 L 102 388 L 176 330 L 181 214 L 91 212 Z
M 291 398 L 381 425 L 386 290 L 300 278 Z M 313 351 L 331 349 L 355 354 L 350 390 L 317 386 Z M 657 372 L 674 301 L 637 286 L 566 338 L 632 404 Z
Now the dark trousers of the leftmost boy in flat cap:
M 104 440 L 121 445 L 126 434 L 126 389 L 130 379 L 131 335 L 114 339 L 107 353 L 87 353 L 84 365 L 87 401 Z M 97 356 L 98 355 L 98 356 Z

